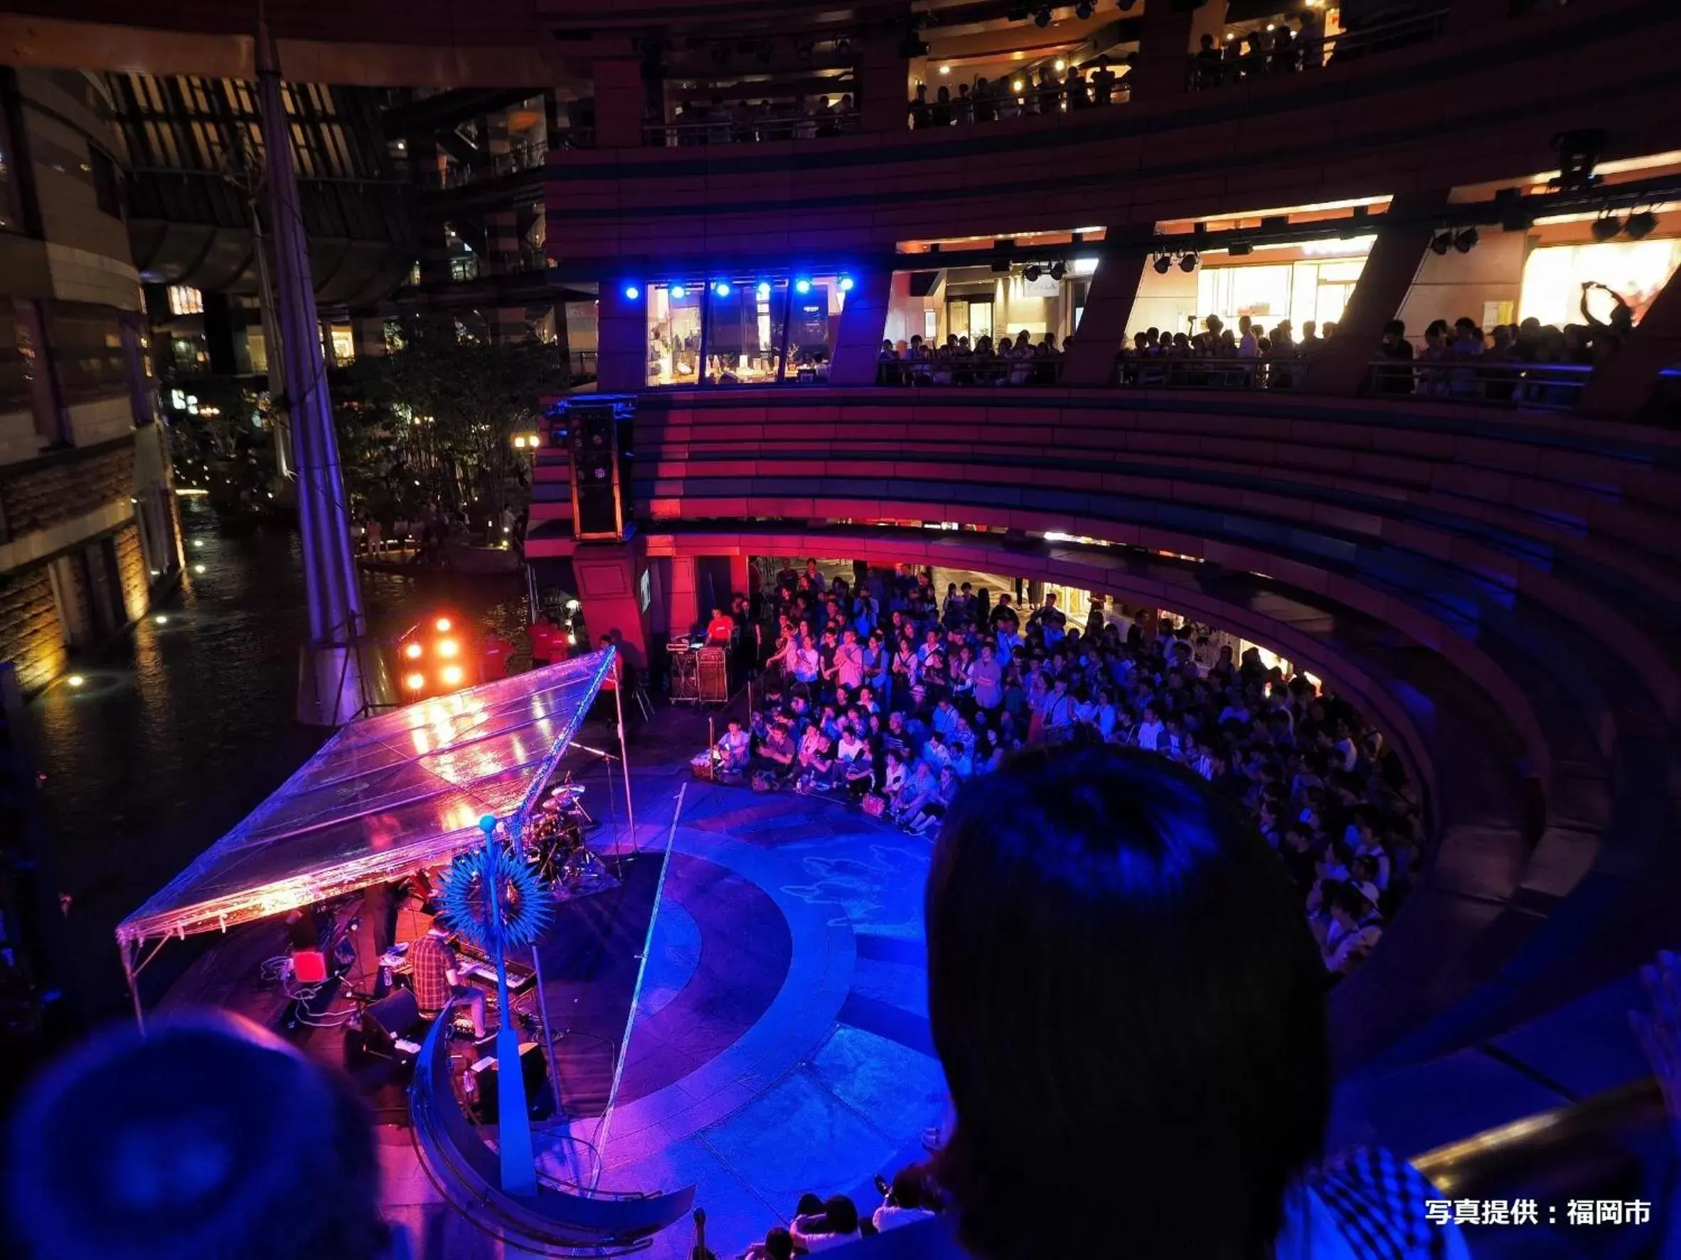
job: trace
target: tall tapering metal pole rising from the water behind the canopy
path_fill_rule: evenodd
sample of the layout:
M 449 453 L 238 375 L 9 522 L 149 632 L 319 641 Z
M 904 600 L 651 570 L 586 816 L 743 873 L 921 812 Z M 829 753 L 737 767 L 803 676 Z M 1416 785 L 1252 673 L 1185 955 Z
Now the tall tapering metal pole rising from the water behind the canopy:
M 366 620 L 350 548 L 345 479 L 333 432 L 333 403 L 321 356 L 309 247 L 292 171 L 291 124 L 281 96 L 281 67 L 267 22 L 257 20 L 257 106 L 262 116 L 274 281 L 279 291 L 281 360 L 292 413 L 298 469 L 298 524 L 303 534 L 309 642 L 298 687 L 298 717 L 343 726 L 365 704 L 390 699 L 378 654 L 363 650 Z

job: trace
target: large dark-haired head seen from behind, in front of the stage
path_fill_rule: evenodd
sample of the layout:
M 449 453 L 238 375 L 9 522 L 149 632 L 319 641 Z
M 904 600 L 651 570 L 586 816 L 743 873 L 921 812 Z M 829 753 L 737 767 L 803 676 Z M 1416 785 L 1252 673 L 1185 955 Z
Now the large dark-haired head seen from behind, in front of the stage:
M 1271 1255 L 1330 1067 L 1318 951 L 1246 816 L 1150 753 L 1029 754 L 946 813 L 926 917 L 970 1255 Z

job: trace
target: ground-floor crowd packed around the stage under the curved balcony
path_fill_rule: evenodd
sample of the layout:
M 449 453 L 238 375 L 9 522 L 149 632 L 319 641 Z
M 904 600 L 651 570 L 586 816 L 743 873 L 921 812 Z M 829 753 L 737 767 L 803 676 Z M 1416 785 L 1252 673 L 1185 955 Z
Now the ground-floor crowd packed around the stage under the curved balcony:
M 1414 880 L 1417 806 L 1399 759 L 1345 701 L 1256 648 L 1190 625 L 1125 628 L 1101 596 L 1084 627 L 1054 595 L 1025 613 L 928 570 L 891 583 L 783 571 L 775 642 L 748 717 L 713 758 L 725 781 L 857 801 L 926 835 L 958 788 L 1027 748 L 1111 743 L 1183 766 L 1239 801 L 1278 852 L 1328 971 L 1352 969 Z

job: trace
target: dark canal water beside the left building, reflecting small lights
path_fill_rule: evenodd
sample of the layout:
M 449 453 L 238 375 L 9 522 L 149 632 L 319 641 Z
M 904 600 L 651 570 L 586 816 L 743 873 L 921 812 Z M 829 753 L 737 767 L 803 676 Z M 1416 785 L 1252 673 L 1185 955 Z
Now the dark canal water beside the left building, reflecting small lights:
M 128 1010 L 116 924 L 277 788 L 326 738 L 292 717 L 306 633 L 303 559 L 286 529 L 224 531 L 182 499 L 187 571 L 131 637 L 79 662 L 29 707 L 72 951 L 74 996 L 91 1016 Z M 432 612 L 516 637 L 516 576 L 365 573 L 378 635 Z M 166 946 L 145 991 L 193 956 Z

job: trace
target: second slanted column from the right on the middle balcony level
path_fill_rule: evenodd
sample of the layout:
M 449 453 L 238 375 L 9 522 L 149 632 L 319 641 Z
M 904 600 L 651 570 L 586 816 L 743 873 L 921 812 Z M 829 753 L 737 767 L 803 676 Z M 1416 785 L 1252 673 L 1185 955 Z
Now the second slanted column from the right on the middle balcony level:
M 1336 336 L 1321 346 L 1308 370 L 1306 393 L 1352 395 L 1365 381 L 1383 324 L 1407 301 L 1424 250 L 1431 247 L 1431 215 L 1446 205 L 1446 190 L 1402 193 L 1390 202 L 1389 213 L 1377 220 L 1377 240 L 1348 297 L 1348 309 L 1336 321 Z

